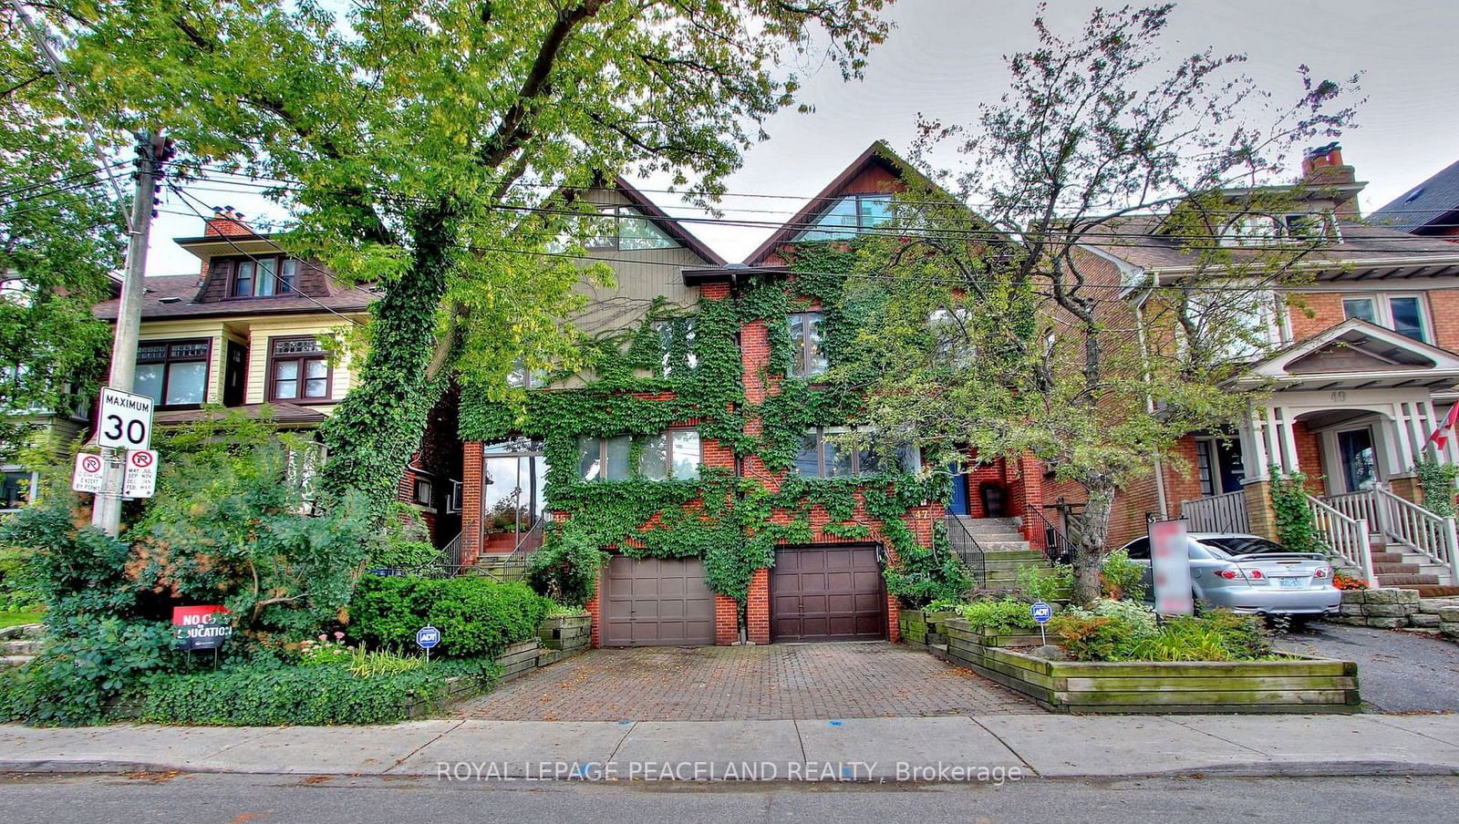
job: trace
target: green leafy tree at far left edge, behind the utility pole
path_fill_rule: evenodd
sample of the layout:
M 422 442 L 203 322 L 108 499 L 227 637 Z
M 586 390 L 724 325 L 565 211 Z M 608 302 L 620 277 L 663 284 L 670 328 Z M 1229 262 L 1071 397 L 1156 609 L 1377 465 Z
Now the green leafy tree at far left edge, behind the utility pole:
M 90 308 L 107 296 L 125 233 L 124 204 L 96 168 L 85 124 L 53 111 L 54 70 L 13 7 L 0 10 L 0 464 L 9 464 L 47 416 L 95 392 L 109 331 Z

